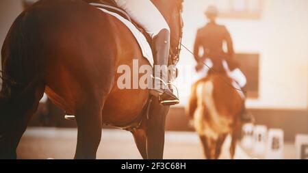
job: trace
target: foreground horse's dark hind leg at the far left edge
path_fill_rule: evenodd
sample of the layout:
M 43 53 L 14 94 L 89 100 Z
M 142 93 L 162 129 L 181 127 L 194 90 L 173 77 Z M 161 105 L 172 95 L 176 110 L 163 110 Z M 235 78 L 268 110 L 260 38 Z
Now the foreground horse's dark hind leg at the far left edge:
M 19 107 L 16 107 L 18 115 L 5 115 L 5 124 L 1 128 L 5 131 L 0 134 L 0 159 L 16 159 L 16 148 L 31 116 L 36 112 L 38 103 L 44 94 L 44 81 L 41 77 L 35 78 L 23 90 Z M 11 98 L 12 99 L 12 98 Z

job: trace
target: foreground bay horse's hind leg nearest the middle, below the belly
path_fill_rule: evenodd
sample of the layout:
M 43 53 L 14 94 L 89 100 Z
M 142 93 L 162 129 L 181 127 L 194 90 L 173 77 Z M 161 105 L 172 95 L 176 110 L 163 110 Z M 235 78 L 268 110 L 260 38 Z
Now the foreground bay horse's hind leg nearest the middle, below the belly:
M 101 142 L 102 107 L 99 99 L 90 99 L 76 113 L 78 137 L 75 159 L 96 159 Z

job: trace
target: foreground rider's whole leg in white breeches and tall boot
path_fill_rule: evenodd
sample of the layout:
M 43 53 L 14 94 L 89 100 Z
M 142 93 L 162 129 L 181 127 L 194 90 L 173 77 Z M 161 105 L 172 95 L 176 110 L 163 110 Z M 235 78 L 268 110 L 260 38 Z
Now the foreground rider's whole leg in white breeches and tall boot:
M 168 88 L 168 58 L 170 48 L 170 28 L 164 16 L 155 5 L 149 0 L 115 0 L 116 4 L 125 10 L 129 16 L 141 25 L 153 39 L 155 86 L 151 93 L 159 96 L 163 105 L 175 105 L 179 98 Z M 142 7 L 142 8 L 141 8 Z M 153 20 L 155 21 L 153 22 Z M 162 87 L 161 87 L 162 86 Z

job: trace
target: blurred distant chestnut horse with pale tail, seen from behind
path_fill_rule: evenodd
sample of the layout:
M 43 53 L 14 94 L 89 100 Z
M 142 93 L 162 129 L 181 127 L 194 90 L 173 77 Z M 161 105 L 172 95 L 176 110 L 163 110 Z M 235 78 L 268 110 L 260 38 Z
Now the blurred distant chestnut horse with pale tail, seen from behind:
M 188 115 L 193 119 L 207 159 L 219 159 L 228 135 L 231 135 L 231 159 L 235 155 L 244 98 L 231 83 L 235 81 L 218 67 L 192 85 Z

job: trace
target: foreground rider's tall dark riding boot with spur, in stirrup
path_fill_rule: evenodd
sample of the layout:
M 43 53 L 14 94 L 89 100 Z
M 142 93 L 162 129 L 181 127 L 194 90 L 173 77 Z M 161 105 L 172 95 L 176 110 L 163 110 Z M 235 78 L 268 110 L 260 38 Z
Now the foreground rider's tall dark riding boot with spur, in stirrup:
M 179 98 L 168 86 L 169 40 L 170 34 L 167 29 L 163 29 L 153 38 L 154 79 L 151 89 L 151 94 L 158 96 L 162 105 L 168 106 L 179 104 Z

